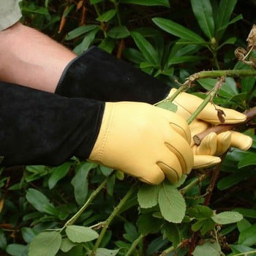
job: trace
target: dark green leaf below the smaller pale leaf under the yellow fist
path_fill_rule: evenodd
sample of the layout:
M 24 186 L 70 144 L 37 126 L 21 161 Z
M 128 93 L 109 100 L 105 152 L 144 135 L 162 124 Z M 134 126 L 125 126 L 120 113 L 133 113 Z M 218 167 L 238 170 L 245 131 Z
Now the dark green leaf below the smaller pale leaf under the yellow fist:
M 138 229 L 143 236 L 154 234 L 159 231 L 163 224 L 163 219 L 157 219 L 152 214 L 141 214 L 138 218 Z

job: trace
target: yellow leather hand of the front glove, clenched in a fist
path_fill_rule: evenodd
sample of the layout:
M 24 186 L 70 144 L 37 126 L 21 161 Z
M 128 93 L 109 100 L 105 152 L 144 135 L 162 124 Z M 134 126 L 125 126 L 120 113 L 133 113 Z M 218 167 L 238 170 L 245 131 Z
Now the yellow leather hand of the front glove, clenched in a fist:
M 148 184 L 173 183 L 192 170 L 191 134 L 176 113 L 142 102 L 106 102 L 89 160 Z

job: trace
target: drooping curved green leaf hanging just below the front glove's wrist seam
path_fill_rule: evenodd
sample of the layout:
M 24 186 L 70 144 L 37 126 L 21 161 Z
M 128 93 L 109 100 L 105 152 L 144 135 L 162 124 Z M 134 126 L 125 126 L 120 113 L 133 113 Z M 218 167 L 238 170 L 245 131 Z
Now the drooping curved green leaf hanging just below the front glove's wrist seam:
M 91 169 L 97 167 L 97 164 L 91 162 L 83 162 L 78 166 L 75 177 L 72 178 L 71 184 L 75 189 L 75 200 L 79 206 L 82 206 L 86 201 L 88 194 L 87 176 Z

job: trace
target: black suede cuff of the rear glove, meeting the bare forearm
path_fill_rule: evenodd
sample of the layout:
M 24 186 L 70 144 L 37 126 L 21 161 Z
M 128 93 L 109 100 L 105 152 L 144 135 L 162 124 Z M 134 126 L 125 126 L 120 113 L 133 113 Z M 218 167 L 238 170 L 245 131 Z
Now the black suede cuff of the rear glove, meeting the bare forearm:
M 115 56 L 92 47 L 64 70 L 56 94 L 105 102 L 138 101 L 154 104 L 170 87 Z

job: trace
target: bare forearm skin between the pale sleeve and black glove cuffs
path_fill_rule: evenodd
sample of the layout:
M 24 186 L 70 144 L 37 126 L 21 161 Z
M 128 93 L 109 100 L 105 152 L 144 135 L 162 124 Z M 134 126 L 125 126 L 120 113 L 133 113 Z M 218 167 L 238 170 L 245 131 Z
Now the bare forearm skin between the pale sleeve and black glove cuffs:
M 0 31 L 0 80 L 54 92 L 75 53 L 41 32 L 16 23 Z

